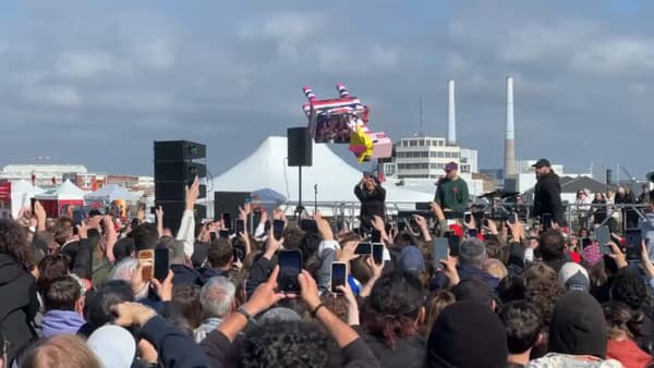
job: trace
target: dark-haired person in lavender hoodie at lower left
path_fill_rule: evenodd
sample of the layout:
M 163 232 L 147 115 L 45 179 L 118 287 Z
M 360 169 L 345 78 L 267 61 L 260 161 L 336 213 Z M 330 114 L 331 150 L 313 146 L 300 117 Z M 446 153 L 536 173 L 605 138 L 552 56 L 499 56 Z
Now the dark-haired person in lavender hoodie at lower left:
M 46 289 L 44 304 L 43 338 L 76 334 L 84 326 L 82 286 L 74 278 L 65 275 L 53 280 Z

